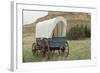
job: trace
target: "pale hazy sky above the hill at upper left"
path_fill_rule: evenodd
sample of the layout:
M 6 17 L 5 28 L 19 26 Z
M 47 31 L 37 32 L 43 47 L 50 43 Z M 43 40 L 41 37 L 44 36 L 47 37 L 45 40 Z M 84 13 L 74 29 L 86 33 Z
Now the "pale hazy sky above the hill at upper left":
M 48 12 L 44 11 L 23 11 L 23 24 L 35 22 L 38 18 L 46 16 Z

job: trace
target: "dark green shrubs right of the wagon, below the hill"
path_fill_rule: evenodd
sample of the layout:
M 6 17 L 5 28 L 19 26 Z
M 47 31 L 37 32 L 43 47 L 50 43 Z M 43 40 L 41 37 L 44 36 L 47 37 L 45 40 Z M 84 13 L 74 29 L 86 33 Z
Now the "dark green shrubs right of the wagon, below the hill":
M 68 32 L 67 32 L 67 38 L 69 40 L 78 40 L 78 39 L 84 39 L 84 38 L 89 38 L 90 37 L 90 29 L 87 26 L 75 26 L 72 27 Z

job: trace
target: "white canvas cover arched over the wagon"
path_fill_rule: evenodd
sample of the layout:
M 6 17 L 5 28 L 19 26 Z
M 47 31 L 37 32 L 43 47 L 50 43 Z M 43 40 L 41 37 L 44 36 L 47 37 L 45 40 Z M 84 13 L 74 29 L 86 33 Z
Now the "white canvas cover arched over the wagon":
M 66 19 L 62 16 L 58 16 L 53 19 L 45 20 L 42 22 L 38 22 L 36 24 L 36 38 L 52 38 L 53 30 L 55 29 L 56 25 L 62 22 L 62 37 L 66 36 L 66 27 L 67 22 Z

